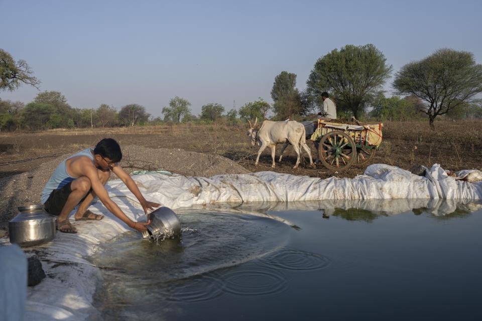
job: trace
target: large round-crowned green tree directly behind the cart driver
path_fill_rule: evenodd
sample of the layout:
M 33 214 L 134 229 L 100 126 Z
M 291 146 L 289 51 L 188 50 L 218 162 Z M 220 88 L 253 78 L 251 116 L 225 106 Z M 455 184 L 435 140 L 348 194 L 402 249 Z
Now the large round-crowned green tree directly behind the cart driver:
M 307 90 L 321 108 L 321 93 L 329 91 L 341 111 L 359 117 L 368 102 L 390 77 L 392 66 L 374 45 L 346 45 L 318 59 L 308 78 Z

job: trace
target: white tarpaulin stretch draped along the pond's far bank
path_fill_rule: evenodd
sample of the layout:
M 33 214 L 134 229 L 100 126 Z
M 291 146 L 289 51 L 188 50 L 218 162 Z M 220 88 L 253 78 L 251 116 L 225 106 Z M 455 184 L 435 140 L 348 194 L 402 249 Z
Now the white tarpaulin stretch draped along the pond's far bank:
M 217 175 L 211 178 L 147 174 L 135 177 L 143 193 L 170 208 L 212 203 L 292 202 L 369 199 L 482 199 L 482 182 L 448 176 L 439 165 L 425 177 L 397 167 L 375 164 L 354 179 L 328 179 L 273 172 Z M 135 196 L 121 182 L 110 182 L 111 197 Z

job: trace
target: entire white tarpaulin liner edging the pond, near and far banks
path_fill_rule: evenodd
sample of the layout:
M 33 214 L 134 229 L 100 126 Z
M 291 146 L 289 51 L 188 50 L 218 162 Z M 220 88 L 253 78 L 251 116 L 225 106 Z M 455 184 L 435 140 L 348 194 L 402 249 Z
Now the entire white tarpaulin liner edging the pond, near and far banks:
M 443 215 L 453 212 L 459 204 L 470 209 L 471 201 L 482 199 L 482 182 L 457 180 L 438 165 L 427 170 L 425 177 L 392 166 L 371 165 L 365 175 L 354 179 L 321 180 L 273 172 L 211 178 L 154 173 L 133 179 L 146 199 L 172 209 L 215 209 L 222 203 L 234 203 L 232 212 L 266 216 L 289 225 L 293 223 L 266 212 L 306 209 L 322 210 L 329 215 L 335 208 L 363 208 L 395 215 L 412 208 L 426 208 L 435 215 Z M 145 220 L 137 199 L 120 180 L 108 182 L 106 188 L 128 217 Z M 78 234 L 58 233 L 52 242 L 35 247 L 49 277 L 28 289 L 25 319 L 95 318 L 92 295 L 96 282 L 100 281 L 101 267 L 93 266 L 86 258 L 98 244 L 132 230 L 100 202 L 89 209 L 105 218 L 75 222 Z M 8 244 L 8 240 L 4 238 L 0 243 Z

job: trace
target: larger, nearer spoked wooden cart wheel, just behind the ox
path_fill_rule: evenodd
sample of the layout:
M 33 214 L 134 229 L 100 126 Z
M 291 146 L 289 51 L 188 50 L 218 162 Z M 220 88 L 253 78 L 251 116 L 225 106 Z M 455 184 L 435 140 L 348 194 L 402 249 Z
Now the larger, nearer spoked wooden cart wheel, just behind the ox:
M 356 147 L 348 134 L 333 130 L 321 137 L 318 154 L 327 169 L 347 170 L 355 161 Z

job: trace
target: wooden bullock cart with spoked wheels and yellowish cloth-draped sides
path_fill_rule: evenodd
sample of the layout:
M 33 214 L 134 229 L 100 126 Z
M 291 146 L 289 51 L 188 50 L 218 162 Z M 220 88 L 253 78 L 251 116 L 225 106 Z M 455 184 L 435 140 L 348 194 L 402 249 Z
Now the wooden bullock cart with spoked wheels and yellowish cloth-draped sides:
M 347 170 L 352 165 L 364 166 L 373 159 L 382 142 L 382 127 L 382 123 L 352 125 L 320 119 L 310 139 L 318 142 L 318 155 L 324 167 Z

